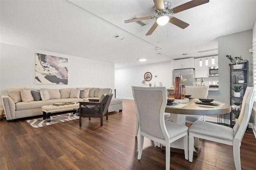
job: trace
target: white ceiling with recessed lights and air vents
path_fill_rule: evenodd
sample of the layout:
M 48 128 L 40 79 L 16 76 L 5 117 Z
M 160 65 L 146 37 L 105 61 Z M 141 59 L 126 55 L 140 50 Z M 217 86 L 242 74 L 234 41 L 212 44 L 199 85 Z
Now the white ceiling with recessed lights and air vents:
M 174 8 L 189 0 L 168 1 Z M 210 56 L 218 51 L 198 51 L 218 48 L 219 36 L 253 28 L 256 0 L 210 0 L 173 15 L 190 24 L 187 28 L 168 23 L 159 26 L 159 36 L 158 28 L 145 36 L 155 19 L 144 20 L 148 25 L 143 27 L 124 24 L 133 16 L 154 16 L 153 0 L 0 0 L 0 40 L 107 61 L 116 68 Z M 115 35 L 125 39 L 117 40 Z M 141 63 L 139 58 L 148 61 Z

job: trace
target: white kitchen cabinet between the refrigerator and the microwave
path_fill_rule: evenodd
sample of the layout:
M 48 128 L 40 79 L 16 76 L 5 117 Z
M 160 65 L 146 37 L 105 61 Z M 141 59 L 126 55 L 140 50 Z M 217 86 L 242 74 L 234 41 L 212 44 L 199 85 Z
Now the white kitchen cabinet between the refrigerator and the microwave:
M 202 59 L 202 67 L 200 67 L 200 65 L 199 65 L 200 59 Z M 206 59 L 206 57 L 195 59 L 195 77 L 196 78 L 208 77 L 208 67 L 209 66 L 205 65 L 205 59 Z

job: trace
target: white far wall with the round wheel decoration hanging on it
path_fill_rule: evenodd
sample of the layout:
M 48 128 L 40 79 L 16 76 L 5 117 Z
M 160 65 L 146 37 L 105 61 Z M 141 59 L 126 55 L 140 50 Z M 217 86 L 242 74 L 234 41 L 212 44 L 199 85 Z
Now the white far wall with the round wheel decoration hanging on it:
M 170 88 L 172 85 L 172 70 L 172 61 L 115 69 L 116 97 L 133 99 L 132 86 L 142 86 L 142 80 L 146 72 L 152 73 L 152 80 L 146 81 L 146 84 L 152 83 L 153 87 L 154 83 L 159 86 L 159 82 L 162 82 L 162 86 Z

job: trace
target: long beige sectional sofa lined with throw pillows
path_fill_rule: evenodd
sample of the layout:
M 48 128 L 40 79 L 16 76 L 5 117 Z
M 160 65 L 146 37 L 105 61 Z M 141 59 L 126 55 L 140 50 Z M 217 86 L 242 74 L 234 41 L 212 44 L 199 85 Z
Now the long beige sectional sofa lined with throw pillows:
M 12 121 L 25 117 L 42 115 L 41 107 L 53 103 L 89 101 L 100 99 L 106 93 L 111 93 L 109 88 L 66 88 L 66 89 L 32 89 L 19 88 L 7 89 L 2 96 L 2 103 L 6 119 Z M 112 99 L 108 111 L 122 111 L 122 99 Z

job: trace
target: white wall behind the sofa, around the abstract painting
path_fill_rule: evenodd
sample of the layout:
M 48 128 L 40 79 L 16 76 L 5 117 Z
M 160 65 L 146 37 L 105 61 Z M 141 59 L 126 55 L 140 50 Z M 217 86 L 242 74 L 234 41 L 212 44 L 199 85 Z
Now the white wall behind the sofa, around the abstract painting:
M 35 84 L 35 53 L 68 58 L 68 85 Z M 6 89 L 22 87 L 38 89 L 100 87 L 111 88 L 114 93 L 114 63 L 4 43 L 0 44 L 0 60 L 0 95 L 5 95 Z

